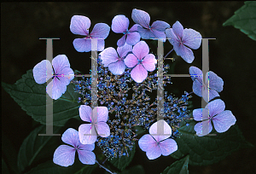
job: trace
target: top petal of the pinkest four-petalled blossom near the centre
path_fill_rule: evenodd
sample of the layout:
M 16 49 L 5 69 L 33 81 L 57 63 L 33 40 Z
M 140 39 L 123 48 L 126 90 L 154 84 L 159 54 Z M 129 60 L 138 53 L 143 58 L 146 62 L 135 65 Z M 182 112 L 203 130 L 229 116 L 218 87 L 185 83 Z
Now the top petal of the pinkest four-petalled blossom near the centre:
M 138 42 L 133 46 L 132 53 L 137 56 L 138 60 L 142 60 L 149 53 L 148 44 L 144 41 Z

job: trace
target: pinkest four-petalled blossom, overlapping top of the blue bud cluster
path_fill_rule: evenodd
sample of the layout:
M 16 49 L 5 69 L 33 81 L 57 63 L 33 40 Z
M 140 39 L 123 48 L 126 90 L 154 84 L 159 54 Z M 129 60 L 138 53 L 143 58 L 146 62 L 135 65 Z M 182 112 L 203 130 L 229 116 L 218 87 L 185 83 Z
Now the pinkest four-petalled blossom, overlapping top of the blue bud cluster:
M 154 71 L 157 61 L 153 54 L 148 54 L 148 44 L 144 41 L 134 45 L 132 53 L 126 56 L 125 65 L 127 67 L 134 67 L 131 70 L 131 78 L 137 83 L 142 83 L 147 78 L 148 72 Z

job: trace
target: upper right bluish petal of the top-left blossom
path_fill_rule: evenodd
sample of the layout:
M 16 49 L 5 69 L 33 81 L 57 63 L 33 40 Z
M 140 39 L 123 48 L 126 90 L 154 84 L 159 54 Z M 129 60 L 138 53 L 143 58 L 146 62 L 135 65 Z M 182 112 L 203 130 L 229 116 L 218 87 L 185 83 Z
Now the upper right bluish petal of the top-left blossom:
M 97 23 L 90 32 L 91 38 L 107 38 L 110 27 L 105 23 Z

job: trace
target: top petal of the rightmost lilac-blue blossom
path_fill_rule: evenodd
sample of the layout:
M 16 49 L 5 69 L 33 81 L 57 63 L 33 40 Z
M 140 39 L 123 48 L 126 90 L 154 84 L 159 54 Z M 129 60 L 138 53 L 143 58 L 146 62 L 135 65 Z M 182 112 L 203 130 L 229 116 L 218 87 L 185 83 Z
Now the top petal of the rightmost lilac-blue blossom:
M 210 116 L 213 117 L 218 113 L 222 113 L 224 111 L 225 103 L 222 100 L 217 99 L 212 102 L 209 102 L 206 108 L 209 109 Z

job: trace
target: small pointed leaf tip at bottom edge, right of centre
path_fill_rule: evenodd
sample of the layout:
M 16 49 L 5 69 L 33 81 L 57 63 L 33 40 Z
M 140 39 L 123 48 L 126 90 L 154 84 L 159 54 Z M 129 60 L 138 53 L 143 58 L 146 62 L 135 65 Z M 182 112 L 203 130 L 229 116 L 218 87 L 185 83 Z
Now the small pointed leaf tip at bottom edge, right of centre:
M 162 174 L 189 174 L 189 155 L 168 166 Z

